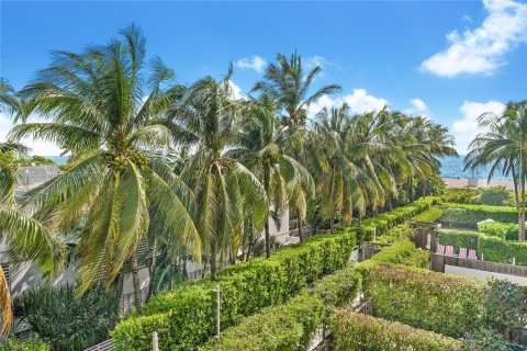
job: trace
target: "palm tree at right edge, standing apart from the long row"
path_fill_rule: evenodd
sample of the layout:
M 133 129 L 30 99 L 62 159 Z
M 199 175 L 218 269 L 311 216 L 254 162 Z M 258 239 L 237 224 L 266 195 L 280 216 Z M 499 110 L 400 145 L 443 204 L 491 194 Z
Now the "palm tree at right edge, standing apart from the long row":
M 518 210 L 518 240 L 525 240 L 527 174 L 527 101 L 511 102 L 501 114 L 482 114 L 478 122 L 486 131 L 470 144 L 464 169 L 491 166 L 489 181 L 497 171 L 512 176 Z

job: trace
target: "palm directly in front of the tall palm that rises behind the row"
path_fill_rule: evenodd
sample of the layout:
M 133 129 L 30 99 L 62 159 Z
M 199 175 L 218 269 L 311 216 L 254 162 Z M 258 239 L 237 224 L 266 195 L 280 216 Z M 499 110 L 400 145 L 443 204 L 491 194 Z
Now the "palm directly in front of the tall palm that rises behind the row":
M 237 146 L 226 152 L 247 166 L 259 179 L 274 211 L 272 216 L 278 226 L 282 211 L 289 201 L 298 203 L 305 216 L 304 189 L 314 193 L 311 174 L 293 157 L 285 152 L 289 127 L 276 123 L 272 101 L 264 97 L 251 102 L 245 110 L 246 120 L 237 135 Z M 299 197 L 296 197 L 299 196 Z M 269 215 L 265 222 L 266 256 L 270 256 Z

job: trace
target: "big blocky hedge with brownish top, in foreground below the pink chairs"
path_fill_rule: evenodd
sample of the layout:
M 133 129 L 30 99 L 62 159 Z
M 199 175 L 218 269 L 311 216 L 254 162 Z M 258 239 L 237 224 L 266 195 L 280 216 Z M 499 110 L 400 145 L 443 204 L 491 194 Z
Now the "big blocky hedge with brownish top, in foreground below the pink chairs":
M 483 313 L 482 283 L 419 269 L 377 267 L 366 294 L 378 317 L 455 338 L 474 331 Z

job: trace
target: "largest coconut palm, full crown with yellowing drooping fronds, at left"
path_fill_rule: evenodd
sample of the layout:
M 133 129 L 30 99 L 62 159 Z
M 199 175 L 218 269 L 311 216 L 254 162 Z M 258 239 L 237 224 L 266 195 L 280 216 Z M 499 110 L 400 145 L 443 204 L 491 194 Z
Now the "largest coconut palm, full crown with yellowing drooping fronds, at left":
M 149 157 L 170 138 L 178 141 L 177 127 L 162 117 L 181 89 L 162 88 L 173 71 L 158 57 L 146 77 L 145 38 L 136 26 L 120 34 L 81 54 L 56 52 L 23 89 L 33 111 L 51 121 L 18 125 L 10 136 L 55 141 L 72 154 L 75 165 L 30 191 L 22 208 L 53 233 L 78 236 L 79 293 L 96 281 L 110 285 L 130 262 L 141 312 L 137 249 L 150 224 L 158 236 L 189 246 L 198 260 L 201 239 L 180 180 Z

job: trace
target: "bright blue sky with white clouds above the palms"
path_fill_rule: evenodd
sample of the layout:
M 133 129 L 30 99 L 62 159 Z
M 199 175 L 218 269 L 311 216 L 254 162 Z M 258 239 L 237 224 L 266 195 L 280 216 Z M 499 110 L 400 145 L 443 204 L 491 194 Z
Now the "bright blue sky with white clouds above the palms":
M 390 2 L 1 1 L 0 76 L 16 89 L 51 50 L 103 44 L 132 22 L 179 82 L 221 76 L 247 93 L 277 53 L 319 64 L 316 84 L 343 92 L 312 106 L 348 102 L 356 112 L 425 114 L 451 128 L 464 152 L 475 117 L 527 98 L 527 3 L 513 0 Z M 38 117 L 33 117 L 37 120 Z M 0 140 L 10 122 L 0 116 Z M 27 140 L 41 155 L 53 145 Z

